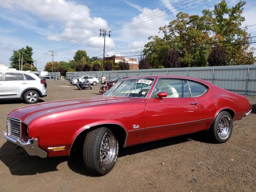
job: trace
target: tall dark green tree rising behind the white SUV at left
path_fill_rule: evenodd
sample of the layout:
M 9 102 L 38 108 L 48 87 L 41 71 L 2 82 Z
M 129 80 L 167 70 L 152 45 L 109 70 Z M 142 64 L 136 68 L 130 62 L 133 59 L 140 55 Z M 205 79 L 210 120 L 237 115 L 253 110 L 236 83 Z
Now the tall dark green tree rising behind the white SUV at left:
M 13 51 L 12 56 L 9 58 L 12 68 L 19 70 L 19 52 L 20 52 L 20 67 L 21 67 L 21 65 L 23 65 L 25 63 L 28 63 L 28 64 L 32 63 L 32 65 L 33 65 L 33 63 L 34 63 L 33 59 L 32 59 L 33 48 L 30 46 L 26 46 L 26 48 L 21 48 L 19 50 Z M 23 52 L 23 60 L 21 63 L 22 52 Z M 23 70 L 23 67 L 22 67 L 22 70 Z

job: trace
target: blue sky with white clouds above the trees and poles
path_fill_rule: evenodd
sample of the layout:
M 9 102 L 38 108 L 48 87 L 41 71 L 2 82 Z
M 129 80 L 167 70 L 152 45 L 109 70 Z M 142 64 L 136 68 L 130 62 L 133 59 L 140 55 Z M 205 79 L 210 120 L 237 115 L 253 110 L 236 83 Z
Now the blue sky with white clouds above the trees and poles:
M 0 0 L 0 63 L 9 66 L 13 50 L 26 45 L 34 49 L 34 59 L 38 59 L 38 69 L 42 70 L 51 60 L 49 50 L 57 50 L 54 60 L 72 60 L 78 49 L 86 50 L 89 56 L 102 54 L 103 38 L 94 34 L 100 28 L 107 28 L 134 20 L 153 12 L 170 7 L 172 12 L 182 10 L 188 14 L 201 14 L 205 8 L 212 9 L 219 1 L 208 0 L 186 8 L 203 0 Z M 178 4 L 183 2 L 181 4 Z M 191 2 L 184 6 L 182 4 Z M 233 6 L 238 0 L 227 0 Z M 171 7 L 178 4 L 174 7 Z M 177 8 L 177 6 L 180 6 Z M 256 24 L 255 0 L 248 0 L 244 7 L 243 24 Z M 158 12 L 160 13 L 160 12 Z M 151 35 L 158 35 L 158 28 L 175 18 L 177 12 L 148 22 L 113 30 L 106 38 L 106 55 L 119 52 L 140 51 Z M 161 14 L 160 14 L 161 15 Z M 158 15 L 158 16 L 160 16 Z M 155 16 L 156 17 L 156 16 Z M 144 21 L 144 20 L 142 20 Z M 136 24 L 136 22 L 132 23 Z M 256 34 L 256 26 L 248 31 Z M 94 35 L 92 35 L 94 34 Z M 73 44 L 86 40 L 72 46 Z M 131 48 L 130 50 L 115 50 Z M 112 49 L 112 50 L 111 50 Z

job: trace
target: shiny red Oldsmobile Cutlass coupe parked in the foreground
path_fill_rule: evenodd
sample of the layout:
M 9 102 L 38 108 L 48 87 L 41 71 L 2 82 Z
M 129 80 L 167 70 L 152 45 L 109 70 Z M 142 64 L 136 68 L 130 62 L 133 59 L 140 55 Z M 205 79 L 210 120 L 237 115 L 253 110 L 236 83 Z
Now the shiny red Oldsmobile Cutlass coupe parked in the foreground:
M 81 146 L 87 170 L 104 175 L 114 167 L 119 145 L 203 130 L 224 143 L 233 121 L 250 111 L 245 97 L 204 80 L 134 77 L 118 81 L 103 96 L 18 108 L 7 116 L 4 137 L 42 158 L 68 156 Z

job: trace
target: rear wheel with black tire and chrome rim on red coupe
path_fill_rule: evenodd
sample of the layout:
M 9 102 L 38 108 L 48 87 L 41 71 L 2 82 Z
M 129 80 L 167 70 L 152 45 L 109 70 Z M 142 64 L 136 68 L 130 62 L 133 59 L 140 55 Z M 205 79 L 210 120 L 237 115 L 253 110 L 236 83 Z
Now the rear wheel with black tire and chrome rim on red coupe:
M 212 122 L 208 133 L 214 142 L 224 143 L 229 140 L 232 130 L 233 121 L 231 115 L 226 111 L 222 111 Z

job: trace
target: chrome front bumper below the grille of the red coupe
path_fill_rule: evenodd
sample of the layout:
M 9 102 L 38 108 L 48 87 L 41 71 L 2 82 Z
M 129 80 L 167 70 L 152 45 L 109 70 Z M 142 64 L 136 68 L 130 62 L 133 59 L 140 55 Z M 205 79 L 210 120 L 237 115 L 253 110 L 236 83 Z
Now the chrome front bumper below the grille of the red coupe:
M 5 131 L 4 138 L 18 146 L 23 147 L 30 156 L 39 156 L 42 158 L 47 157 L 47 152 L 38 147 L 37 139 L 29 139 L 27 142 L 24 142 L 21 139 L 9 137 Z

